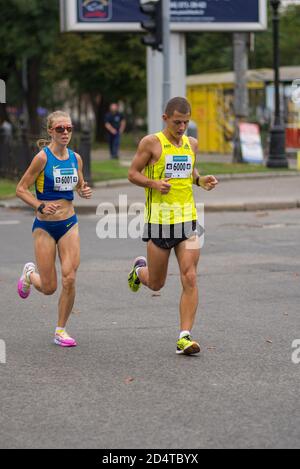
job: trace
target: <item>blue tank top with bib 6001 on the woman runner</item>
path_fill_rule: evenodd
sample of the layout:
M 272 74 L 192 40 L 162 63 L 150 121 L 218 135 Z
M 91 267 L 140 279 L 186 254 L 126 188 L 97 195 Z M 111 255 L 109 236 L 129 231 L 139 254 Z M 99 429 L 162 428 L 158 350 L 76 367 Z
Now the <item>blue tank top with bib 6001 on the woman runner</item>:
M 78 178 L 78 160 L 75 153 L 68 149 L 69 158 L 59 160 L 48 147 L 43 148 L 47 156 L 44 170 L 35 182 L 38 200 L 73 200 Z

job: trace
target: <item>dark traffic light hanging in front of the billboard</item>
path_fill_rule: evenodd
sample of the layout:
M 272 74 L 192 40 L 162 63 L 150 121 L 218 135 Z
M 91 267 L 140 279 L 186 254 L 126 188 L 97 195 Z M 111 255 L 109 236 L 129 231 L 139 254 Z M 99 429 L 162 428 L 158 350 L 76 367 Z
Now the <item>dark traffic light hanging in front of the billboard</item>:
M 141 22 L 141 26 L 148 34 L 142 38 L 145 46 L 153 50 L 163 50 L 163 21 L 162 0 L 140 0 L 140 10 L 147 19 Z

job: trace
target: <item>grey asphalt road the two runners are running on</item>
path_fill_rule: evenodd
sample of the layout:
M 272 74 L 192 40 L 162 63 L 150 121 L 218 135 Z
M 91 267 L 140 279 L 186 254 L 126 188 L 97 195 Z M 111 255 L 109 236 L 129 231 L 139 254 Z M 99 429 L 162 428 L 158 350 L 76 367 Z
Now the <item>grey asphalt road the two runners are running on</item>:
M 79 345 L 66 350 L 52 344 L 58 294 L 16 294 L 31 214 L 0 211 L 0 447 L 299 448 L 300 211 L 206 216 L 194 357 L 175 354 L 174 256 L 161 296 L 134 295 L 144 244 L 100 240 L 97 222 L 80 216 Z

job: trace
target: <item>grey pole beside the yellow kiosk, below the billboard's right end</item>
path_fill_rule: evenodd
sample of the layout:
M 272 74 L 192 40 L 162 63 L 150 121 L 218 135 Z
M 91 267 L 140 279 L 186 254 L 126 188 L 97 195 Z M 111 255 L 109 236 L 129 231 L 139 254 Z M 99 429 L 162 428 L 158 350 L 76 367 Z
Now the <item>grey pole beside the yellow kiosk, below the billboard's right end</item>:
M 241 145 L 239 138 L 239 124 L 244 122 L 249 115 L 249 97 L 247 86 L 248 71 L 248 34 L 234 33 L 234 72 L 235 72 L 235 90 L 234 90 L 234 113 L 235 113 L 235 135 L 233 162 L 241 162 Z

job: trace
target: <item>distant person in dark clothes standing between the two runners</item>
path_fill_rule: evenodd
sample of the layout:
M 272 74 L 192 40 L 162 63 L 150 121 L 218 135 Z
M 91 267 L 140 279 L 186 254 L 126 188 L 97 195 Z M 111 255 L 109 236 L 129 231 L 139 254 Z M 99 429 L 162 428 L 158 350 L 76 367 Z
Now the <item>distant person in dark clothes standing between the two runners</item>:
M 118 159 L 121 135 L 126 128 L 126 120 L 124 115 L 119 112 L 117 103 L 110 105 L 109 112 L 105 116 L 105 128 L 108 132 L 110 158 Z

